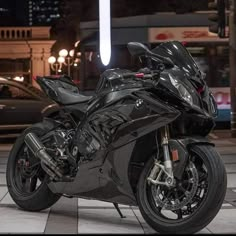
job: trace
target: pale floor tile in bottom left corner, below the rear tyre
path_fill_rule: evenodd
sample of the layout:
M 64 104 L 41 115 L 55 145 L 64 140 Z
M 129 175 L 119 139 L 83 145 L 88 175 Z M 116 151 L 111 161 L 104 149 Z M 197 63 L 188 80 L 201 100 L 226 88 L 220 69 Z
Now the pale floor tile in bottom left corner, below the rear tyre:
M 12 207 L 0 207 L 1 233 L 43 233 L 48 219 L 47 211 L 32 213 Z

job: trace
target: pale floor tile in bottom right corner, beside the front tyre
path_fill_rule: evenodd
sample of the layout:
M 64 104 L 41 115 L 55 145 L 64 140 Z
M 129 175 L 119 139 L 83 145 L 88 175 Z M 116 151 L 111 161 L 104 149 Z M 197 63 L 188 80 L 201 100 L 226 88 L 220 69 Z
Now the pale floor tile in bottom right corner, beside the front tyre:
M 222 209 L 207 228 L 214 234 L 236 232 L 236 209 Z

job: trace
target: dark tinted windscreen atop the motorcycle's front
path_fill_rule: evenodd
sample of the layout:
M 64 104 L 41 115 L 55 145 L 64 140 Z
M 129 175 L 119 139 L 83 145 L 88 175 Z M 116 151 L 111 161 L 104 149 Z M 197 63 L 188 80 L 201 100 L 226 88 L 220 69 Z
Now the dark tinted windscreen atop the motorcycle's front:
M 187 49 L 178 41 L 162 43 L 152 50 L 155 54 L 170 58 L 176 66 L 190 76 L 201 75 L 200 70 Z

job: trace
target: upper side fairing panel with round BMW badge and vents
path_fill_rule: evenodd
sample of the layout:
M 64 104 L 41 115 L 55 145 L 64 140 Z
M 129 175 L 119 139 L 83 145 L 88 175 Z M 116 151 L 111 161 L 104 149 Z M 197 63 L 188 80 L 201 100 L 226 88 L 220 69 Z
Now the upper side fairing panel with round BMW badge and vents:
M 73 146 L 78 146 L 82 155 L 96 163 L 96 152 L 119 148 L 180 115 L 178 110 L 157 99 L 155 94 L 137 89 L 113 93 L 112 98 L 110 93 L 106 94 L 89 109 Z

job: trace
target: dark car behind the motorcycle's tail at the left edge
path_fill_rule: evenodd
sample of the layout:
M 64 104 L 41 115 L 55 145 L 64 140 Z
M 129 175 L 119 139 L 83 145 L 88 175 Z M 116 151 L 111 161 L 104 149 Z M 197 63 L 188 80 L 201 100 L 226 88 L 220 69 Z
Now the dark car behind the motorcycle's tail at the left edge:
M 0 138 L 16 137 L 58 109 L 55 102 L 31 84 L 0 77 Z

